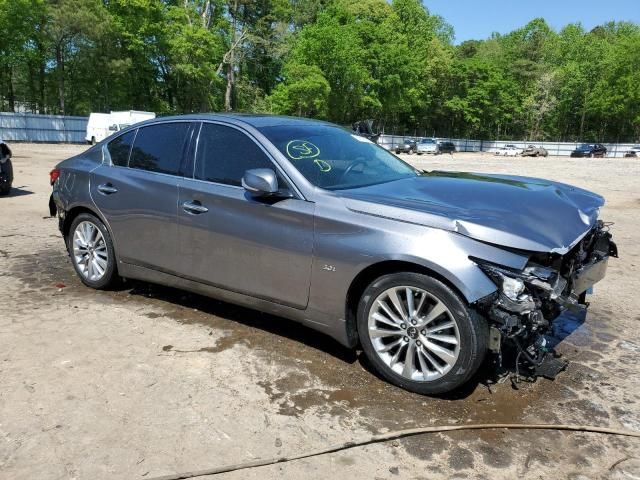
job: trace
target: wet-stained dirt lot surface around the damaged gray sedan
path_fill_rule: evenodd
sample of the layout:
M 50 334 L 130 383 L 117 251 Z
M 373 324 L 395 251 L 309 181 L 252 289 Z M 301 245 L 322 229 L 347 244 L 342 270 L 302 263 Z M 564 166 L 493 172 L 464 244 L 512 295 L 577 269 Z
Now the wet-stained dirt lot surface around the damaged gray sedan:
M 457 154 L 422 168 L 552 178 L 607 198 L 620 250 L 555 381 L 404 392 L 290 321 L 177 290 L 81 285 L 48 217 L 49 170 L 81 146 L 12 145 L 0 198 L 0 478 L 154 478 L 398 428 L 578 423 L 640 430 L 640 162 Z M 553 212 L 550 212 L 553 214 Z M 217 478 L 640 478 L 640 441 L 557 431 L 428 434 Z M 207 477 L 212 478 L 212 477 Z

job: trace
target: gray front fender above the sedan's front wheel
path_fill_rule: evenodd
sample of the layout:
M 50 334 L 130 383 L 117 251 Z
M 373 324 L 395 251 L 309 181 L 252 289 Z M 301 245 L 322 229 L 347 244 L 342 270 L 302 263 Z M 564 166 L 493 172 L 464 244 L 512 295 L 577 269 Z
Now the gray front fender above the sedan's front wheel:
M 496 285 L 470 257 L 515 269 L 528 260 L 447 230 L 370 215 L 359 217 L 360 222 L 352 214 L 344 222 L 327 217 L 325 212 L 316 217 L 309 296 L 309 313 L 318 312 L 326 321 L 344 320 L 349 288 L 376 264 L 401 261 L 432 270 L 473 303 L 495 292 Z

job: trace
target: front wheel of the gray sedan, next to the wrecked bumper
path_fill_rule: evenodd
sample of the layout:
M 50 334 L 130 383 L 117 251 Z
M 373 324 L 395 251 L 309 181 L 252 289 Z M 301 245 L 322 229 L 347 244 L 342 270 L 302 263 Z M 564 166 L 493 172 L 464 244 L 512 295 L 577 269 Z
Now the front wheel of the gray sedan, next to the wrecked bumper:
M 488 348 L 485 320 L 447 285 L 417 273 L 385 275 L 371 283 L 358 305 L 357 326 L 375 371 L 422 395 L 463 385 Z

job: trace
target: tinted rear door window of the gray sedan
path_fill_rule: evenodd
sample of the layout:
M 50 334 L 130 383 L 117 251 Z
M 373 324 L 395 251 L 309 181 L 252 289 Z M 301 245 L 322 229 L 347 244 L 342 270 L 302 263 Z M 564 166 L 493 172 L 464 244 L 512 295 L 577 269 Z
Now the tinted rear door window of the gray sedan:
M 138 129 L 130 168 L 177 175 L 186 146 L 188 122 L 161 123 Z

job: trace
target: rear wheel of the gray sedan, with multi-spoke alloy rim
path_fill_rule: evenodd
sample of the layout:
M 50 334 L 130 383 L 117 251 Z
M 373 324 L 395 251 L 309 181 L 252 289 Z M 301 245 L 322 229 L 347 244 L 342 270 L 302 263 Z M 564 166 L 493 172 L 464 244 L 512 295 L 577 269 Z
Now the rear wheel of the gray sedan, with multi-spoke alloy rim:
M 118 280 L 111 235 L 104 223 L 88 213 L 78 215 L 66 238 L 71 263 L 82 283 L 98 290 Z

